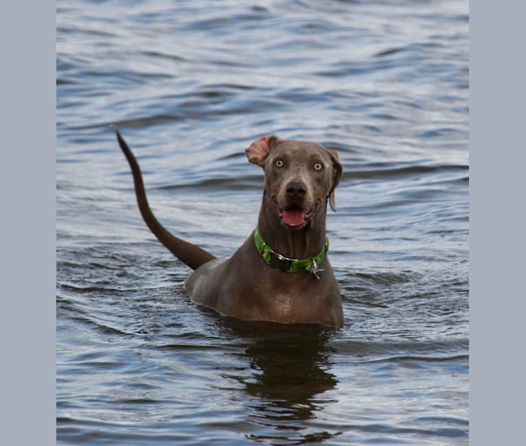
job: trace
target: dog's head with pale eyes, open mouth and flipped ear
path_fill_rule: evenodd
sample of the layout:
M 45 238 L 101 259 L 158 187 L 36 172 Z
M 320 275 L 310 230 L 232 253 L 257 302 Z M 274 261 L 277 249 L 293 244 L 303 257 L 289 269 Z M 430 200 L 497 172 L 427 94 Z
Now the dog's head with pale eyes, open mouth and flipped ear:
M 262 137 L 246 151 L 251 163 L 263 167 L 265 189 L 277 218 L 290 229 L 303 228 L 330 198 L 342 167 L 338 154 L 318 143 Z

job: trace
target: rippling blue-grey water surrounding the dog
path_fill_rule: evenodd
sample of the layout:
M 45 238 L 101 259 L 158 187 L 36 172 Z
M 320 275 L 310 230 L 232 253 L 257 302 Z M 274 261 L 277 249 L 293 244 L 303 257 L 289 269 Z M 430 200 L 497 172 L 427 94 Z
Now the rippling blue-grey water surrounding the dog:
M 57 442 L 468 444 L 468 2 L 57 2 Z M 319 141 L 345 327 L 203 311 L 148 231 L 230 255 L 263 134 Z

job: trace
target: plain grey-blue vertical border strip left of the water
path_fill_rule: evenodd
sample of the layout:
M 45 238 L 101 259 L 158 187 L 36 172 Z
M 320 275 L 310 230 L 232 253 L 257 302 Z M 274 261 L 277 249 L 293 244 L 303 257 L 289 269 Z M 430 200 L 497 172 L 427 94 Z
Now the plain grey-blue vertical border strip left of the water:
M 5 445 L 56 443 L 55 6 L 0 8 Z

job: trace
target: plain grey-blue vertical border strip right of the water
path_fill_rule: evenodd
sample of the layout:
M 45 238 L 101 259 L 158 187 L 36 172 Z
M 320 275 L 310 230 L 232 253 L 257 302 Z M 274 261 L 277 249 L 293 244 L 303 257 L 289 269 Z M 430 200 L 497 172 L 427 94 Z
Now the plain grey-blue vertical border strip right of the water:
M 517 445 L 525 401 L 526 7 L 470 2 L 470 443 Z

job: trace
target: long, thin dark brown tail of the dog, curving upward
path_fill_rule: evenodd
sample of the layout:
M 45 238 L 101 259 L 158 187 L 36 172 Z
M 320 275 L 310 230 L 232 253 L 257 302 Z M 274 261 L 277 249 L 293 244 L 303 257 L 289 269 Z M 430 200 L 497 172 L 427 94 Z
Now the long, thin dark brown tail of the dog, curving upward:
M 133 156 L 128 144 L 122 138 L 119 130 L 115 129 L 117 133 L 117 141 L 121 146 L 122 152 L 126 156 L 128 163 L 130 164 L 131 171 L 133 174 L 133 183 L 135 184 L 135 195 L 137 196 L 137 204 L 139 204 L 139 211 L 141 211 L 142 218 L 150 228 L 150 231 L 155 234 L 155 237 L 159 239 L 166 248 L 168 248 L 179 260 L 183 261 L 190 266 L 192 269 L 196 269 L 211 259 L 215 259 L 213 255 L 207 253 L 207 251 L 195 246 L 191 243 L 185 242 L 183 239 L 175 237 L 172 233 L 166 230 L 166 228 L 159 223 L 159 220 L 155 218 L 148 200 L 146 199 L 146 191 L 144 190 L 144 184 L 142 181 L 141 169 L 137 159 Z

